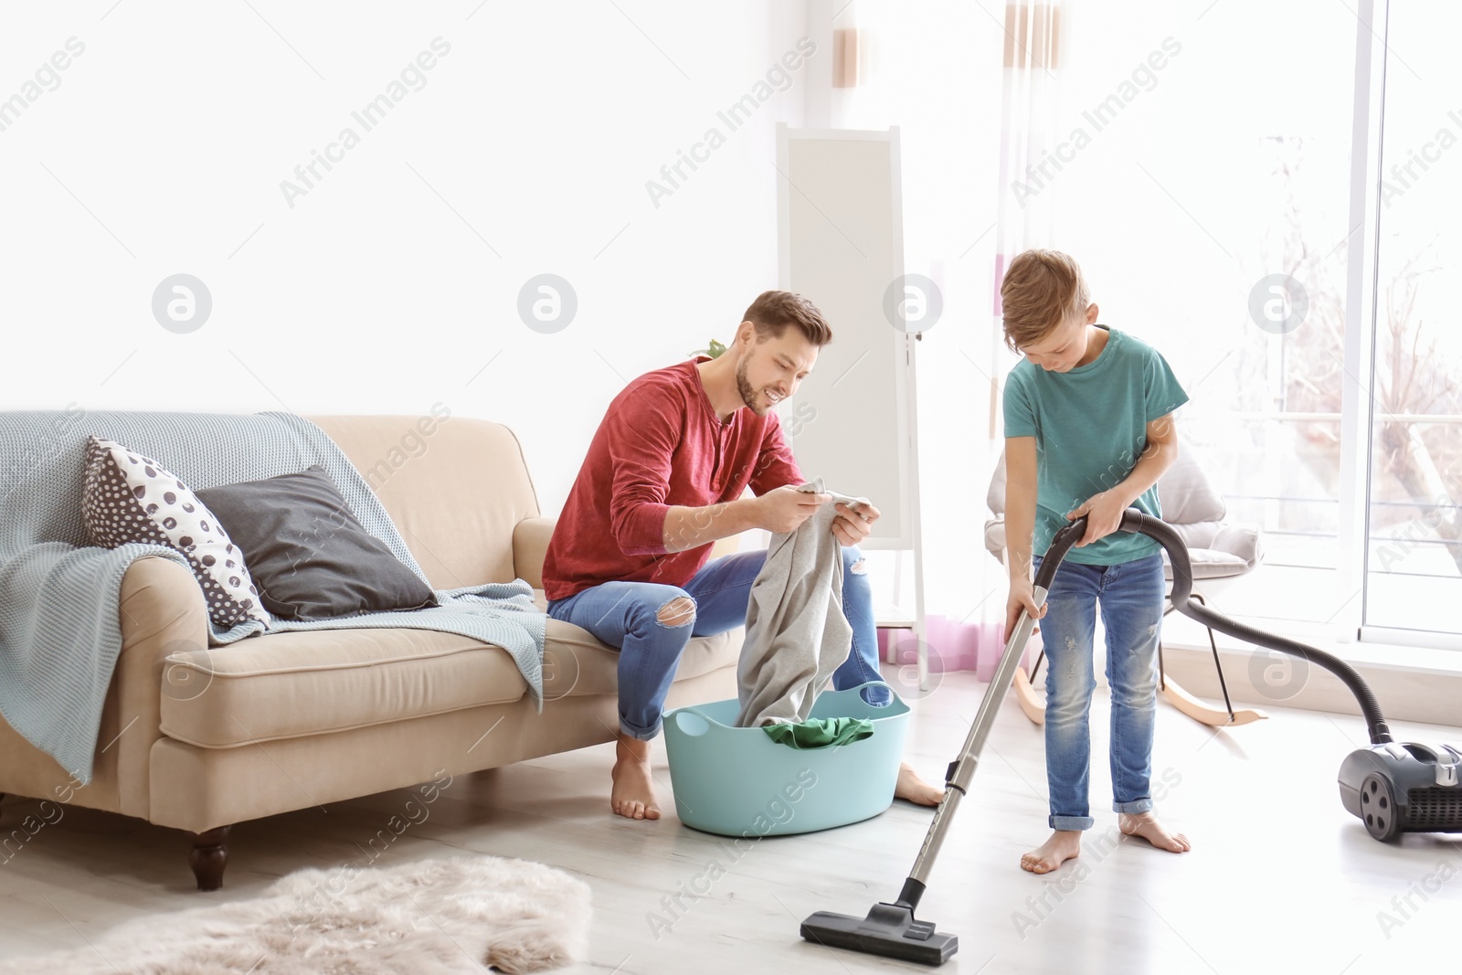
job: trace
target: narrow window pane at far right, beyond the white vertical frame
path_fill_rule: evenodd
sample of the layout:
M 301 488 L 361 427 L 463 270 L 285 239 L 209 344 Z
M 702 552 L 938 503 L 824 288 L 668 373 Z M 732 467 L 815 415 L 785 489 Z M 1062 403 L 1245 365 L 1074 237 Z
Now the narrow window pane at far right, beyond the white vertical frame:
M 1367 403 L 1367 627 L 1456 631 L 1462 605 L 1462 63 L 1455 4 L 1392 3 Z

